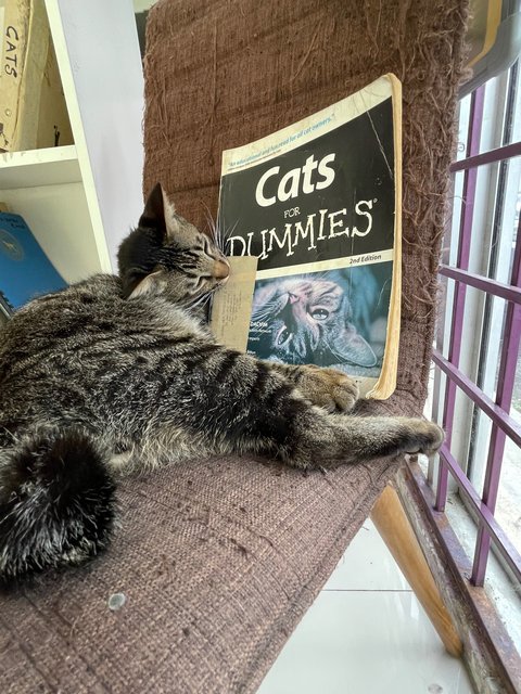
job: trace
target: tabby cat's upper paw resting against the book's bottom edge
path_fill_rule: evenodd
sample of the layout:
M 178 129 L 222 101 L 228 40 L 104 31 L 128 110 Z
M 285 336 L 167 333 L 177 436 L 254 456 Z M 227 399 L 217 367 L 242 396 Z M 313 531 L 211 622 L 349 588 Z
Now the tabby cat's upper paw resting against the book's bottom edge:
M 302 395 L 327 412 L 350 412 L 358 399 L 358 386 L 336 369 L 313 364 L 301 367 L 297 388 Z

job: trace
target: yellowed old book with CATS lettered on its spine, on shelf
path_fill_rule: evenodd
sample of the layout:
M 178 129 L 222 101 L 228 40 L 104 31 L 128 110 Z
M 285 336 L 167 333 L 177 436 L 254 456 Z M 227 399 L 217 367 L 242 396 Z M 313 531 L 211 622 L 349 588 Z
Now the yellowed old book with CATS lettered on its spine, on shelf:
M 43 0 L 5 0 L 2 16 L 0 151 L 72 144 Z

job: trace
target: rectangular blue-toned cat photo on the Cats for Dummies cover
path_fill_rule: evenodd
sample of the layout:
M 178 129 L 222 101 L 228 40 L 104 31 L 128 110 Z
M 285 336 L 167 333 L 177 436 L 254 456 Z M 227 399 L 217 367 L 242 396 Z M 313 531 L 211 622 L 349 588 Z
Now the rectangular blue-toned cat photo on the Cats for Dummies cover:
M 249 351 L 263 359 L 378 376 L 391 277 L 391 264 L 381 264 L 258 281 Z

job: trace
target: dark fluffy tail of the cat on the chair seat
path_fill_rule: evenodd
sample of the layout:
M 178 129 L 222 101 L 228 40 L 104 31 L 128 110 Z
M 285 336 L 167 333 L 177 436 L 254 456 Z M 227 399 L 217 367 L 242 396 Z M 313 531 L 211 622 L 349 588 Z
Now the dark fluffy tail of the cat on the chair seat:
M 79 428 L 0 449 L 0 586 L 81 564 L 109 544 L 116 507 L 107 460 Z

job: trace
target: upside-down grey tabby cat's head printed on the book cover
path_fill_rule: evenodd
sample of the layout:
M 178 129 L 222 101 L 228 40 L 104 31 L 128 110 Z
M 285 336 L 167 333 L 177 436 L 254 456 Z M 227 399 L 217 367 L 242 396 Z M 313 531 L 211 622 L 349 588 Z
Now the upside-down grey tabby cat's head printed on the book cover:
M 351 303 L 335 282 L 294 278 L 268 282 L 255 293 L 256 349 L 287 363 L 373 367 L 377 357 L 353 324 Z

